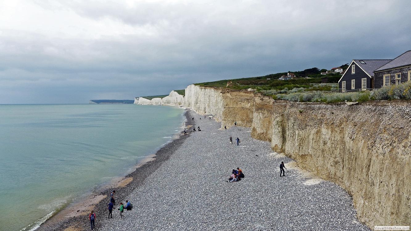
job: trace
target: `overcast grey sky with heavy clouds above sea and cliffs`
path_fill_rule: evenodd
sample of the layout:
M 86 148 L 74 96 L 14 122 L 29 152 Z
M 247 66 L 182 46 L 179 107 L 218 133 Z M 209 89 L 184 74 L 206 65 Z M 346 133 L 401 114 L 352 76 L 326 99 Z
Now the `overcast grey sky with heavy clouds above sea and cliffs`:
M 409 0 L 0 0 L 0 103 L 88 103 L 392 59 Z

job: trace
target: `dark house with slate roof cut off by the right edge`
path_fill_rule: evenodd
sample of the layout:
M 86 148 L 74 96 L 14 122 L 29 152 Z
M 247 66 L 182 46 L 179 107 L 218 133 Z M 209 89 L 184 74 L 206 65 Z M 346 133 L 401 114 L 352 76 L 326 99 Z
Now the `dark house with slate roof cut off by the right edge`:
M 396 85 L 410 81 L 411 50 L 396 57 L 374 71 L 375 88 Z

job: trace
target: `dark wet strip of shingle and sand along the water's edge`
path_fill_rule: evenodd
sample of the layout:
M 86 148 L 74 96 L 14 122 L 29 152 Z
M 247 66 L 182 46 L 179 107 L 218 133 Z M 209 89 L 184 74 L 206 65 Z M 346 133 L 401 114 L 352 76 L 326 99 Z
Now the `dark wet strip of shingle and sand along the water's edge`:
M 189 120 L 189 110 L 186 108 L 184 109 L 185 112 L 183 112 L 182 117 L 185 117 L 185 122 L 183 123 L 182 128 L 187 128 L 187 126 L 192 126 L 194 122 Z M 88 230 L 90 226 L 88 214 L 91 210 L 94 210 L 95 212 L 105 210 L 108 202 L 104 199 L 108 197 L 112 190 L 116 190 L 115 201 L 116 206 L 118 206 L 120 201 L 126 200 L 125 197 L 127 197 L 134 189 L 142 185 L 150 174 L 152 174 L 164 161 L 168 160 L 175 149 L 177 149 L 187 137 L 189 137 L 189 135 L 183 135 L 181 131 L 175 133 L 171 142 L 164 144 L 155 154 L 149 154 L 148 156 L 145 156 L 143 160 L 137 162 L 134 171 L 124 177 L 114 178 L 108 183 L 101 185 L 94 192 L 82 196 L 79 201 L 73 202 L 51 215 L 45 222 L 39 224 L 39 227 L 35 230 Z M 99 217 L 97 216 L 96 218 L 98 219 Z M 41 219 L 42 218 L 39 220 Z

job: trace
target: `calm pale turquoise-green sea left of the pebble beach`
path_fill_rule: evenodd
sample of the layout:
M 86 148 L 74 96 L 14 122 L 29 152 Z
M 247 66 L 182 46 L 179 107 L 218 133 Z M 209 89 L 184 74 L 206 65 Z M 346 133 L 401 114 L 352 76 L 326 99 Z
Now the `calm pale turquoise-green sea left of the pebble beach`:
M 0 105 L 0 230 L 35 230 L 134 171 L 181 132 L 184 111 L 134 104 Z

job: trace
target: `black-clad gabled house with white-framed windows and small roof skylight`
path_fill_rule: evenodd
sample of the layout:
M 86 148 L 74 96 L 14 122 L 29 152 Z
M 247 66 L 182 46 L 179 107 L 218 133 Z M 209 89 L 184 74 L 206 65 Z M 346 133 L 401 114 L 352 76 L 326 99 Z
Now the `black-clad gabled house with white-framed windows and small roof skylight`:
M 391 59 L 353 59 L 339 79 L 339 91 L 365 91 L 374 88 L 374 70 Z

